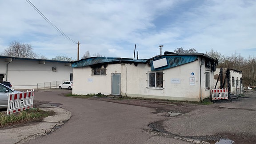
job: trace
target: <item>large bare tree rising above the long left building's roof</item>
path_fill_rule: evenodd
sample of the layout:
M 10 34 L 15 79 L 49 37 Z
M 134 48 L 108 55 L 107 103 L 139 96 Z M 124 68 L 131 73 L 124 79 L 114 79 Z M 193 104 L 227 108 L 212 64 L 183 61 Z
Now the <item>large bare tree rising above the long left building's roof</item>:
M 12 41 L 8 48 L 4 49 L 2 52 L 5 56 L 16 56 L 16 57 L 28 57 L 34 58 L 38 55 L 33 52 L 31 44 L 21 44 L 19 41 Z

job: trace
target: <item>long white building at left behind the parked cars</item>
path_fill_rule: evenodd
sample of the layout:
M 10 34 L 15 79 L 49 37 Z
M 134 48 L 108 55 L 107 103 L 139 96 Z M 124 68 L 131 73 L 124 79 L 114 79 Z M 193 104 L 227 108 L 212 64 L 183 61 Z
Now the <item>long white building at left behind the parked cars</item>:
M 15 89 L 37 88 L 38 83 L 72 80 L 69 61 L 0 56 L 0 82 Z

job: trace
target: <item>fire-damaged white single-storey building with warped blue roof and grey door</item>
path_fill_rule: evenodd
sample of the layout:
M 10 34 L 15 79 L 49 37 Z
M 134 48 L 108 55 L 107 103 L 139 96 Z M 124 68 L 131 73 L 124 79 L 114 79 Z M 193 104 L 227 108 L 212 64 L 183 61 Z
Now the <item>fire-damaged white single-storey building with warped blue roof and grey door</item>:
M 72 94 L 200 101 L 211 95 L 215 66 L 216 60 L 202 53 L 143 60 L 91 57 L 72 62 Z

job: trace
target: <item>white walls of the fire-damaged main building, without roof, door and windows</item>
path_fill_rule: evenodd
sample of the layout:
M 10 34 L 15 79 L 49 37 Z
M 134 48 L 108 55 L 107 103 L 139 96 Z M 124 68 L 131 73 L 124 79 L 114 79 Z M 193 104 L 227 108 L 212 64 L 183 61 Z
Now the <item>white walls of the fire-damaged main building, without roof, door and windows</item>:
M 106 75 L 92 75 L 90 66 L 73 68 L 72 94 L 86 95 L 88 93 L 113 94 L 113 75 L 120 76 L 120 95 L 128 97 L 142 97 L 165 100 L 200 101 L 211 95 L 214 88 L 213 72 L 205 67 L 202 59 L 182 64 L 163 72 L 162 88 L 150 88 L 150 64 L 108 64 Z M 201 65 L 204 64 L 204 65 Z M 201 65 L 201 66 L 200 66 Z M 201 67 L 201 68 L 200 68 Z M 200 72 L 201 71 L 201 72 Z M 208 73 L 209 87 L 205 88 L 205 72 Z

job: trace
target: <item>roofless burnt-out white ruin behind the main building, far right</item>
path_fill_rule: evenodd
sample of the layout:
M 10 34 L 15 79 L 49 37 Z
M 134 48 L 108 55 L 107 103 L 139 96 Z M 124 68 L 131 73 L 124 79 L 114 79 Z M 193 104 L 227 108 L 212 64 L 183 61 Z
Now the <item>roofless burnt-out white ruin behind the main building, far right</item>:
M 216 71 L 214 72 L 216 88 L 221 88 L 221 73 L 222 88 L 228 88 L 228 92 L 233 94 L 244 92 L 242 72 L 230 68 L 216 68 Z

